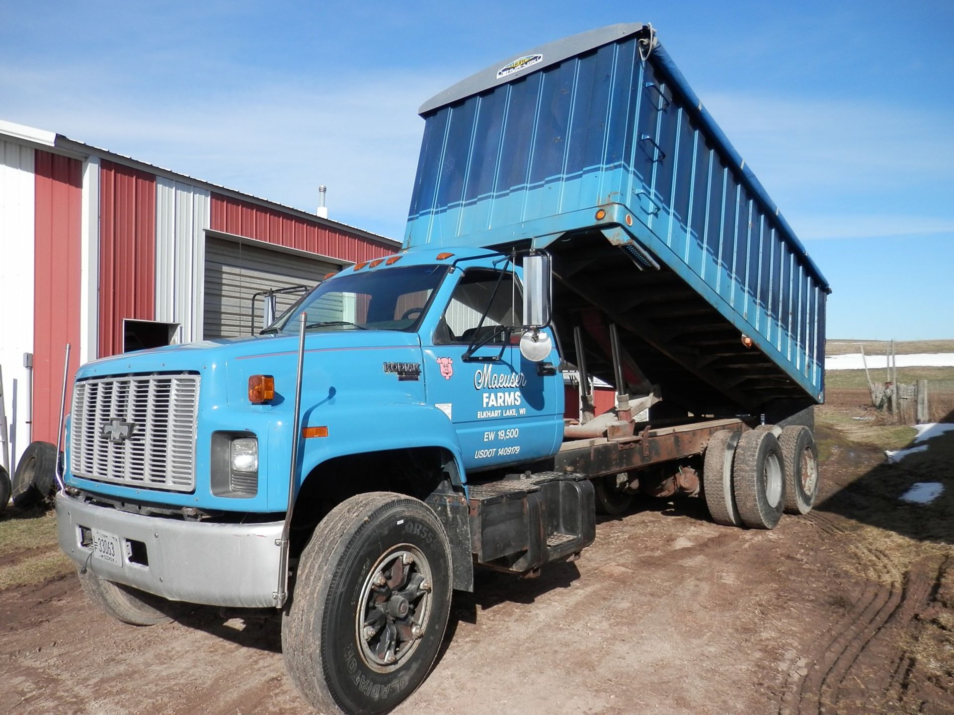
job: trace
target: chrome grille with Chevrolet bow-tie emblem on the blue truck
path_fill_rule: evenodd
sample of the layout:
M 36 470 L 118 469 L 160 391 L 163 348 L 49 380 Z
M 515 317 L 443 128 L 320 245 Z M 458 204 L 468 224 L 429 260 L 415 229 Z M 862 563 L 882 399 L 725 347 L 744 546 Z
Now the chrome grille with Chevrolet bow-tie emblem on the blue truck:
M 73 475 L 192 491 L 197 409 L 197 375 L 130 375 L 76 382 L 70 432 Z

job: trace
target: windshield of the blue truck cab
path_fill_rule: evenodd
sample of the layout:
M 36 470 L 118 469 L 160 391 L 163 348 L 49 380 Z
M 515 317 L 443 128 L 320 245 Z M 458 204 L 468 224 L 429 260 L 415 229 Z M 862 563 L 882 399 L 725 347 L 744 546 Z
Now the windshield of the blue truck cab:
M 446 270 L 446 266 L 404 266 L 336 276 L 262 332 L 297 333 L 302 312 L 308 330 L 412 331 Z

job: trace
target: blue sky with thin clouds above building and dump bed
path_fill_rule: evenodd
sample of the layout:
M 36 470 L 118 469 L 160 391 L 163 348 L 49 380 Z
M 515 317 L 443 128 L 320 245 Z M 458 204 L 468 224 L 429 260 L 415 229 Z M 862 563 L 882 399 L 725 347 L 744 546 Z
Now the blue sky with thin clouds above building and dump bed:
M 616 22 L 660 41 L 831 282 L 829 337 L 954 337 L 954 3 L 0 0 L 0 119 L 400 238 L 418 106 Z

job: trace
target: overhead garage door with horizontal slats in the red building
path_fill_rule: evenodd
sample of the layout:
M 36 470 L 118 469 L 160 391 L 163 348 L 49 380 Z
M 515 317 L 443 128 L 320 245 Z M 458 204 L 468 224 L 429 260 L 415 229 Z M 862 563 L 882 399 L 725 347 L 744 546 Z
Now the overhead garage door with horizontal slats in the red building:
M 258 242 L 218 236 L 205 239 L 204 337 L 240 337 L 253 332 L 252 296 L 259 291 L 306 285 L 309 288 L 340 265 L 299 253 L 263 247 Z M 301 294 L 276 296 L 280 315 Z M 261 296 L 254 329 L 260 330 Z

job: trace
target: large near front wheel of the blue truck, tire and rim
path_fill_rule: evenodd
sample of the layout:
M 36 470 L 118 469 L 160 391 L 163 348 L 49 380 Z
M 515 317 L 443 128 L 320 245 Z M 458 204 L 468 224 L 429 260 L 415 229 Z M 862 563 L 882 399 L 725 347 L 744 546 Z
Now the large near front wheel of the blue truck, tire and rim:
M 422 501 L 374 492 L 336 506 L 299 560 L 281 646 L 292 683 L 321 711 L 387 712 L 437 657 L 450 547 Z

